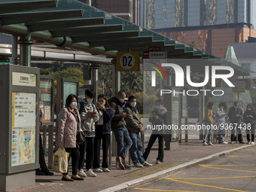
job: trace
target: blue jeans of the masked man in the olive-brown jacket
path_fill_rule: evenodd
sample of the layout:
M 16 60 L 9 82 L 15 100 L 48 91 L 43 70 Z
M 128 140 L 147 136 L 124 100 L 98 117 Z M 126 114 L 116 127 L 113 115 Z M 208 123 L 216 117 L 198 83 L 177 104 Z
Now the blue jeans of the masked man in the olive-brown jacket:
M 130 154 L 131 154 L 131 158 L 133 160 L 133 163 L 144 163 L 145 159 L 143 157 L 142 154 L 142 142 L 141 139 L 139 137 L 139 133 L 135 133 L 133 131 L 130 131 L 130 138 L 133 141 L 133 145 L 130 148 Z

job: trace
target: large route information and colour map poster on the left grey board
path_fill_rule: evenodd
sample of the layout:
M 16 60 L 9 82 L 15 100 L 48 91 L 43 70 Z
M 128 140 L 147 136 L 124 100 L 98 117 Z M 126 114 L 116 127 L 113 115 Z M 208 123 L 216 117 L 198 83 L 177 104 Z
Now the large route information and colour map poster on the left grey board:
M 13 93 L 11 166 L 35 163 L 36 93 Z

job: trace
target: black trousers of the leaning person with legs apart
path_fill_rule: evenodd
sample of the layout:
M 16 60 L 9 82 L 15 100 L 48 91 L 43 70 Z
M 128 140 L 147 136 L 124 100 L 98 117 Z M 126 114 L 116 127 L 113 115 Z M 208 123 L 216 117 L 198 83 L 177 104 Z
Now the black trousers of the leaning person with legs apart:
M 164 136 L 159 135 L 159 134 L 151 134 L 151 137 L 148 142 L 148 147 L 146 148 L 145 153 L 143 154 L 145 161 L 148 159 L 148 154 L 150 153 L 151 148 L 154 145 L 154 142 L 156 141 L 157 138 L 158 138 L 157 160 L 160 160 L 160 162 L 163 162 L 163 139 L 164 139 Z

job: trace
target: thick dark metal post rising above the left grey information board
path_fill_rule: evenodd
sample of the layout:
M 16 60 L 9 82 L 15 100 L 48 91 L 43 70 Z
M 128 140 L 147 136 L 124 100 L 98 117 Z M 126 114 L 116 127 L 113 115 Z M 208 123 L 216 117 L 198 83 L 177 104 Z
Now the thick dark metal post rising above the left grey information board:
M 31 35 L 20 38 L 20 66 L 31 66 Z

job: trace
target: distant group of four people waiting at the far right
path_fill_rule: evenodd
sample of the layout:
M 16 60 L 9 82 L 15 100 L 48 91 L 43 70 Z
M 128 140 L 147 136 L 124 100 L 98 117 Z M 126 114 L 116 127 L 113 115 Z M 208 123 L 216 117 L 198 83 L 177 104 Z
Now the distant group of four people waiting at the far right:
M 230 143 L 236 142 L 236 132 L 237 140 L 239 144 L 245 144 L 242 139 L 242 130 L 246 131 L 247 145 L 254 145 L 254 132 L 255 132 L 255 120 L 256 113 L 252 104 L 248 104 L 246 110 L 239 105 L 239 102 L 234 102 L 233 106 L 230 107 L 227 112 L 227 104 L 221 102 L 218 105 L 218 110 L 214 115 L 212 111 L 214 106 L 213 102 L 209 102 L 205 108 L 203 124 L 205 126 L 211 127 L 213 123 L 218 124 L 218 143 L 227 145 L 228 142 L 225 139 L 225 131 L 231 130 Z M 227 117 L 230 123 L 227 123 Z M 250 134 L 251 133 L 251 134 Z M 213 145 L 211 142 L 212 128 L 205 129 L 203 135 L 203 145 Z

